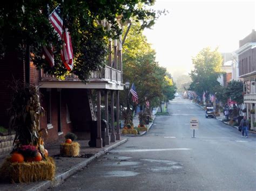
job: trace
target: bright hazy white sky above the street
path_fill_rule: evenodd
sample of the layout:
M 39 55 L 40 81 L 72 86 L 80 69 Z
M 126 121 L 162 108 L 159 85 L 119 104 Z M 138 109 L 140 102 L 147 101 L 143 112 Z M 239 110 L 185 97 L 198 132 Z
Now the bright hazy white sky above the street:
M 173 75 L 192 69 L 192 56 L 210 46 L 233 52 L 256 26 L 255 1 L 156 0 L 153 9 L 169 11 L 144 34 L 157 61 Z

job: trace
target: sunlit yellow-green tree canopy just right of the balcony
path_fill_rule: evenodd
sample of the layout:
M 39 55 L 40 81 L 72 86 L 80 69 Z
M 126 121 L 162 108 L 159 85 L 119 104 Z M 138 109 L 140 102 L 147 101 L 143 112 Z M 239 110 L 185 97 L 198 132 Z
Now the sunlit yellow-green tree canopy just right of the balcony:
M 166 68 L 158 65 L 156 52 L 138 29 L 139 25 L 133 22 L 123 46 L 123 79 L 124 82 L 134 83 L 140 105 L 149 100 L 151 106 L 156 106 L 161 100 L 171 100 L 176 89 L 173 88 L 171 75 Z M 120 100 L 122 102 L 122 98 Z M 134 103 L 130 104 L 135 106 Z

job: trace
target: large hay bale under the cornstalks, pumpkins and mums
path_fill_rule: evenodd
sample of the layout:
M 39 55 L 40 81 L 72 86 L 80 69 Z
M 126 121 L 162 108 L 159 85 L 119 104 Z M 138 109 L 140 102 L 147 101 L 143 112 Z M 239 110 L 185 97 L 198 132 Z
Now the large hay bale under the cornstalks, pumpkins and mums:
M 51 157 L 39 162 L 11 162 L 11 157 L 5 159 L 0 168 L 2 181 L 7 182 L 35 182 L 39 180 L 53 180 L 55 178 L 55 162 Z

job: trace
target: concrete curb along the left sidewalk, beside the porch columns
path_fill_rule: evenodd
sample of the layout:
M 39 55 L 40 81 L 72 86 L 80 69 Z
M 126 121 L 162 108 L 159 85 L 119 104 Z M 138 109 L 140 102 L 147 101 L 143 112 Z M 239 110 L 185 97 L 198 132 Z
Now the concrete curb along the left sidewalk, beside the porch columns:
M 93 155 L 92 157 L 90 157 L 89 159 L 86 159 L 83 162 L 80 162 L 79 164 L 77 164 L 76 166 L 73 166 L 71 169 L 69 169 L 69 171 L 66 171 L 62 174 L 58 174 L 55 177 L 55 180 L 53 181 L 44 181 L 41 183 L 38 183 L 38 185 L 33 186 L 32 188 L 28 189 L 29 191 L 35 190 L 35 191 L 39 191 L 39 190 L 46 190 L 51 186 L 55 186 L 58 185 L 59 183 L 62 183 L 65 179 L 69 178 L 69 176 L 75 174 L 76 172 L 80 171 L 80 169 L 86 167 L 88 164 L 90 164 L 90 162 L 92 162 L 93 160 L 96 160 L 97 158 L 101 157 L 102 155 L 104 155 L 106 152 L 112 150 L 113 148 L 124 144 L 125 142 L 127 142 L 128 139 L 123 139 L 120 142 L 111 145 L 108 148 L 105 148 L 103 151 L 99 151 L 98 153 L 96 153 L 95 155 Z

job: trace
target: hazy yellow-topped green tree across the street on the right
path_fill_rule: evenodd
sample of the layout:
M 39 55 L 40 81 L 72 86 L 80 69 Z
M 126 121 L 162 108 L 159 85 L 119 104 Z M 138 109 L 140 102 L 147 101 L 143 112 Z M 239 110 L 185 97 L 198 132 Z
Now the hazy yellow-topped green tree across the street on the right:
M 217 81 L 221 74 L 221 54 L 218 48 L 211 51 L 210 47 L 203 48 L 196 57 L 192 58 L 194 70 L 191 71 L 192 83 L 190 90 L 193 90 L 200 97 L 203 92 L 213 93 L 213 88 L 219 84 Z

